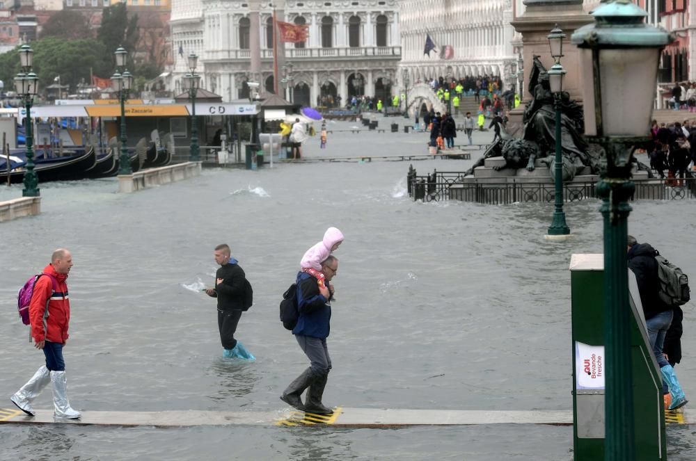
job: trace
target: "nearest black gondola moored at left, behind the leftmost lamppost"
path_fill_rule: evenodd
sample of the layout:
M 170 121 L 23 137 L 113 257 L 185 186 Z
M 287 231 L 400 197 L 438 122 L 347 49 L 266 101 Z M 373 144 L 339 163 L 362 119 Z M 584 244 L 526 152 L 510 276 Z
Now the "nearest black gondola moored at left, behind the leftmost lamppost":
M 97 155 L 92 146 L 78 155 L 70 157 L 57 157 L 55 159 L 44 159 L 36 163 L 34 171 L 38 176 L 39 183 L 47 181 L 69 181 L 71 179 L 84 179 L 86 171 L 93 168 L 97 163 Z M 10 170 L 10 182 L 13 184 L 24 181 L 24 168 Z M 6 177 L 6 169 L 0 170 L 0 177 Z

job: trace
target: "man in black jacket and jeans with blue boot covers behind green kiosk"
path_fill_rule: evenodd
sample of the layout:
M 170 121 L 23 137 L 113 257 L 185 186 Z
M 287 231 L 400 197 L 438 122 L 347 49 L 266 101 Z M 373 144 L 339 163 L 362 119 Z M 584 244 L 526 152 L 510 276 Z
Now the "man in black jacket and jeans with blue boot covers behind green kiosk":
M 658 261 L 655 257 L 659 253 L 649 243 L 638 243 L 635 237 L 628 236 L 628 268 L 635 274 L 635 282 L 638 284 L 640 304 L 643 307 L 645 325 L 648 330 L 650 346 L 657 359 L 658 366 L 664 382 L 669 386 L 670 398 L 665 398 L 669 410 L 674 410 L 686 405 L 686 396 L 681 390 L 677 375 L 665 356 L 663 346 L 665 335 L 672 323 L 673 309 L 666 305 L 660 298 L 660 279 L 658 277 Z M 664 387 L 664 384 L 663 384 Z M 663 389 L 663 393 L 665 389 Z

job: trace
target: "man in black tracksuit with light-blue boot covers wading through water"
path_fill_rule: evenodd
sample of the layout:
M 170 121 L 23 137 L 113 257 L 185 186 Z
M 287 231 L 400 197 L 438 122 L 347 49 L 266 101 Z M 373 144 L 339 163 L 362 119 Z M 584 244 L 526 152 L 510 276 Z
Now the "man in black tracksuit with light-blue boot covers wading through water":
M 223 357 L 251 362 L 255 357 L 235 339 L 237 324 L 244 310 L 246 275 L 242 267 L 237 264 L 239 261 L 230 254 L 230 247 L 224 243 L 215 247 L 214 258 L 220 268 L 215 273 L 215 288 L 207 289 L 205 293 L 218 300 L 218 329 L 224 349 Z

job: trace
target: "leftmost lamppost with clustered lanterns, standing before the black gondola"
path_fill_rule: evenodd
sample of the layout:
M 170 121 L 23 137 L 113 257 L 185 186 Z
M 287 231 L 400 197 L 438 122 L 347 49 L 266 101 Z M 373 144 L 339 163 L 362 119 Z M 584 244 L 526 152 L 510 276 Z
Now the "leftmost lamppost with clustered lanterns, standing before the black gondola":
M 15 76 L 15 90 L 22 97 L 26 116 L 25 143 L 26 143 L 26 172 L 24 173 L 23 197 L 38 197 L 39 179 L 34 170 L 34 150 L 33 134 L 31 132 L 31 104 L 38 90 L 39 78 L 31 71 L 34 51 L 29 45 L 22 45 L 19 48 L 19 64 L 22 65 L 22 72 Z M 8 165 L 8 168 L 9 165 Z

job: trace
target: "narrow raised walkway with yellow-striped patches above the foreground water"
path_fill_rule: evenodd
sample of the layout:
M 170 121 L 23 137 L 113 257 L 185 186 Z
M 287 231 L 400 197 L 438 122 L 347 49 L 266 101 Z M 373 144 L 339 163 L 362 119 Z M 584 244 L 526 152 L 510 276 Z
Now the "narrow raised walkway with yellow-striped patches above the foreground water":
M 688 410 L 665 412 L 667 423 L 693 424 Z M 56 419 L 53 410 L 37 410 L 27 416 L 16 408 L 0 409 L 3 424 L 77 424 L 81 426 L 335 426 L 345 428 L 399 428 L 405 426 L 473 426 L 488 424 L 546 424 L 571 426 L 573 412 L 487 410 L 389 410 L 336 407 L 331 416 L 280 410 L 277 412 L 82 412 L 81 419 Z

